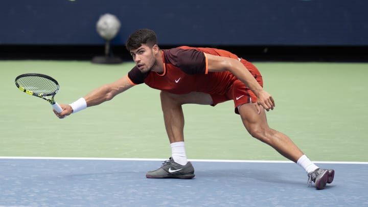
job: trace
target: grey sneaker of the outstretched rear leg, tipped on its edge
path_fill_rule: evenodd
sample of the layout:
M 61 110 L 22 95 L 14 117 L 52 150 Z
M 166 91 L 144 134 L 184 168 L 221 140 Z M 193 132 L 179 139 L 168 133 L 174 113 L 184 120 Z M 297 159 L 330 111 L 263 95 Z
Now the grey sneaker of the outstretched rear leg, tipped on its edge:
M 326 183 L 331 183 L 335 176 L 334 170 L 318 168 L 313 172 L 308 173 L 308 185 L 312 186 L 312 181 L 317 190 L 322 190 L 326 187 Z

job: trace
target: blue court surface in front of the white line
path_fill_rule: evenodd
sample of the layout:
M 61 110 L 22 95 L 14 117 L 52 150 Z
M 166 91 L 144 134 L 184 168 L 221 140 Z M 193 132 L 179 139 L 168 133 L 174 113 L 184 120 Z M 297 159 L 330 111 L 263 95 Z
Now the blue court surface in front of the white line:
M 368 165 L 335 169 L 325 190 L 293 163 L 192 161 L 195 178 L 148 179 L 157 160 L 0 159 L 0 206 L 368 206 Z

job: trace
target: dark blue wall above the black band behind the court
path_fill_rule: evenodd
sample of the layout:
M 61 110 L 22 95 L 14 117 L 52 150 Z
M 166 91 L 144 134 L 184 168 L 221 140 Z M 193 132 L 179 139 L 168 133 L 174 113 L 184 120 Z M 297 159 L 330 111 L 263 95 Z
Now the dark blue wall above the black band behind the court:
M 367 0 L 14 0 L 0 6 L 0 44 L 103 44 L 96 22 L 116 15 L 125 44 L 139 28 L 159 44 L 368 45 Z

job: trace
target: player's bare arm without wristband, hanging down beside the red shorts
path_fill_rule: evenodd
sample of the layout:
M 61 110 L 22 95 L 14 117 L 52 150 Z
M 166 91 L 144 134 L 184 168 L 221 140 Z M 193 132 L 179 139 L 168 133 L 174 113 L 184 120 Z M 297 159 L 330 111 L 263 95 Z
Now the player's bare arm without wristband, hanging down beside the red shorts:
M 249 87 L 251 91 L 257 96 L 257 103 L 262 105 L 267 111 L 273 109 L 275 106 L 274 100 L 267 91 L 263 90 L 262 86 L 250 74 L 247 68 L 238 60 L 233 58 L 221 57 L 206 54 L 208 57 L 209 72 L 230 71 L 240 81 Z M 257 105 L 258 106 L 258 105 Z M 257 107 L 260 113 L 259 106 Z

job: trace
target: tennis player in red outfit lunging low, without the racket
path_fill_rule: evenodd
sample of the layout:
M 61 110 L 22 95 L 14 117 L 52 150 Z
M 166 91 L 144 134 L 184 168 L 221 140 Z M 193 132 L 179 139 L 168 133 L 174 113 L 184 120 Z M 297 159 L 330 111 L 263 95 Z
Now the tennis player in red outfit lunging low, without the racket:
M 324 189 L 331 183 L 334 170 L 321 169 L 290 140 L 271 129 L 266 112 L 275 107 L 272 96 L 263 90 L 258 69 L 250 62 L 230 52 L 212 48 L 178 47 L 162 50 L 156 34 L 140 29 L 131 34 L 126 48 L 135 66 L 116 82 L 103 85 L 70 105 L 60 104 L 59 118 L 111 100 L 114 96 L 145 83 L 161 90 L 160 99 L 169 137 L 171 157 L 158 169 L 149 171 L 147 178 L 193 178 L 194 168 L 188 162 L 184 143 L 183 104 L 215 106 L 233 100 L 234 111 L 240 115 L 251 136 L 270 145 L 286 158 L 303 167 L 308 183 Z

